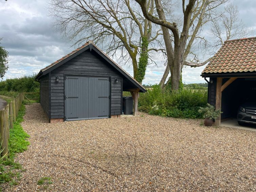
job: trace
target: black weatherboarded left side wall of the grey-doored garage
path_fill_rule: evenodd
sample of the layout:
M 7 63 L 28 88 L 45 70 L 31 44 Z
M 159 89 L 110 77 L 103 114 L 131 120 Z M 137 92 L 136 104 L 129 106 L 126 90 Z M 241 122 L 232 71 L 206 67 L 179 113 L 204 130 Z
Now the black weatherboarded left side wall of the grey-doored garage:
M 40 103 L 43 111 L 49 118 L 49 75 L 46 74 L 40 79 Z

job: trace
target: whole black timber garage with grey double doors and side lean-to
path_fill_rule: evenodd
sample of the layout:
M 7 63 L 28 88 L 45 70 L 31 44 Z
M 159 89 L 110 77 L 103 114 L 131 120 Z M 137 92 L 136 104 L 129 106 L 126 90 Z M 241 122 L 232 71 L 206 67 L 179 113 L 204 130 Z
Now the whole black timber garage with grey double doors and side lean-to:
M 40 103 L 50 122 L 118 117 L 123 91 L 134 99 L 146 89 L 92 41 L 40 70 Z

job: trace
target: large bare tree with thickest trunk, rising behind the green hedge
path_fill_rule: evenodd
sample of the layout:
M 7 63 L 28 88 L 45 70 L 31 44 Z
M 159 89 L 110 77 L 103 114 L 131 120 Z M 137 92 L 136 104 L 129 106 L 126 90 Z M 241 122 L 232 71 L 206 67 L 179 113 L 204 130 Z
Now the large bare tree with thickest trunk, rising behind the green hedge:
M 170 62 L 168 61 L 168 66 L 171 72 L 172 90 L 178 90 L 182 66 L 198 66 L 202 64 L 186 61 L 187 56 L 189 54 L 193 54 L 191 52 L 191 47 L 193 46 L 195 39 L 202 39 L 200 36 L 198 36 L 198 33 L 205 23 L 212 20 L 213 15 L 211 13 L 213 10 L 227 0 L 189 0 L 186 6 L 185 0 L 182 0 L 183 25 L 181 30 L 176 22 L 169 22 L 165 18 L 166 15 L 162 6 L 162 1 L 154 1 L 156 4 L 158 17 L 147 11 L 146 0 L 136 0 L 136 2 L 138 2 L 142 8 L 143 15 L 148 20 L 159 24 L 162 27 L 166 27 L 171 31 L 171 35 L 173 36 L 173 52 L 170 54 L 172 59 Z M 166 38 L 168 39 L 170 36 L 166 34 Z M 168 40 L 168 42 L 169 41 L 170 40 Z M 166 50 L 167 49 L 172 50 L 169 43 L 166 45 Z M 203 63 L 207 63 L 207 61 Z

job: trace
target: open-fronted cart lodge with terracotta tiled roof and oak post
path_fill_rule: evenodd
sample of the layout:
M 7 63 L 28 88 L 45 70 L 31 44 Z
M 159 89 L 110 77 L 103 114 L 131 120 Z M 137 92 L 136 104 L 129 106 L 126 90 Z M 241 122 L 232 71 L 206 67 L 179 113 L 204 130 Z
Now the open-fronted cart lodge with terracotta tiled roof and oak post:
M 253 105 L 237 116 L 239 107 L 256 101 L 256 37 L 225 41 L 201 76 L 209 78 L 208 103 L 223 112 L 215 124 L 230 118 L 256 123 Z

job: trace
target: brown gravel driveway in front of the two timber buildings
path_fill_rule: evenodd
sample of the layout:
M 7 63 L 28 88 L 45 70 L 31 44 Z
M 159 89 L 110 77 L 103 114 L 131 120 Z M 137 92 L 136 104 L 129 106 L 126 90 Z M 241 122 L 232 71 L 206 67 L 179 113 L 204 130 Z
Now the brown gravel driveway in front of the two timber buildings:
M 50 124 L 38 103 L 24 119 L 26 171 L 4 190 L 256 191 L 256 132 L 147 114 Z

